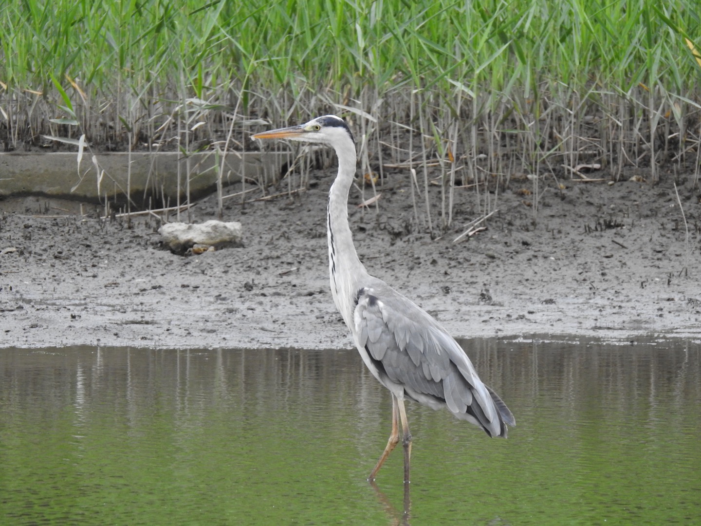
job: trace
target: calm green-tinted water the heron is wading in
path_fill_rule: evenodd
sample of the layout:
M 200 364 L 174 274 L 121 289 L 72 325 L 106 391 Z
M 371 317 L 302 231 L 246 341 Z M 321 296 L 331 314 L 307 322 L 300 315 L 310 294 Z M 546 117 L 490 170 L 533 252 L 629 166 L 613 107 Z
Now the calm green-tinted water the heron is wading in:
M 701 523 L 701 346 L 464 342 L 517 419 L 391 402 L 355 351 L 0 350 L 1 525 Z

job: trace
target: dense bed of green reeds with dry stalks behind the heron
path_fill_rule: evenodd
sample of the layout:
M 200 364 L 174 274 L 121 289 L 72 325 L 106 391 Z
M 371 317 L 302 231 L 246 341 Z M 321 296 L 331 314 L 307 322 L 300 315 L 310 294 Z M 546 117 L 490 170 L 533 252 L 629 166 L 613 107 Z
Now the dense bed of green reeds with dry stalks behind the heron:
M 83 137 L 220 156 L 250 149 L 261 127 L 341 114 L 360 171 L 381 185 L 402 170 L 431 231 L 451 224 L 455 191 L 484 196 L 486 214 L 513 178 L 532 186 L 534 210 L 539 185 L 594 164 L 606 180 L 633 166 L 654 184 L 674 166 L 698 184 L 696 11 L 693 0 L 8 2 L 0 137 L 6 150 L 77 151 Z

